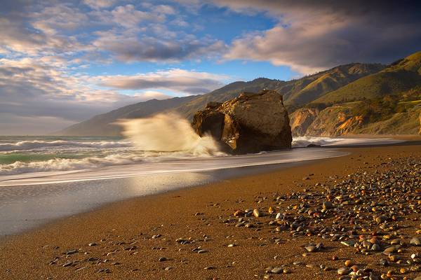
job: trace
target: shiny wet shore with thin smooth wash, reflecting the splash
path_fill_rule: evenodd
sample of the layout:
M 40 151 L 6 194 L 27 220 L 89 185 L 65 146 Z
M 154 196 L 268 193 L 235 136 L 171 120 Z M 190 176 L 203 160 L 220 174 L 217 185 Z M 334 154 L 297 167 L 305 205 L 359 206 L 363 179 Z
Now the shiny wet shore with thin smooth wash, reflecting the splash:
M 301 165 L 309 160 L 344 154 L 335 149 L 298 148 L 256 155 L 108 167 L 100 171 L 93 170 L 85 173 L 85 176 L 105 174 L 107 177 L 104 179 L 83 180 L 81 177 L 83 172 L 68 174 L 68 179 L 76 178 L 77 180 L 67 183 L 38 184 L 43 180 L 52 181 L 51 176 L 24 179 L 25 184 L 22 186 L 0 187 L 0 204 L 3 204 L 0 212 L 0 238 L 4 235 L 25 232 L 25 230 L 50 221 L 57 221 L 60 218 L 93 211 L 112 202 L 166 193 L 180 188 L 203 186 L 247 174 L 268 172 Z M 149 174 L 153 171 L 152 169 L 158 169 L 159 172 Z M 165 169 L 168 172 L 161 172 Z M 142 172 L 145 174 L 140 174 Z M 132 176 L 132 173 L 135 175 Z M 118 176 L 110 178 L 112 174 Z M 29 184 L 27 180 L 35 183 Z

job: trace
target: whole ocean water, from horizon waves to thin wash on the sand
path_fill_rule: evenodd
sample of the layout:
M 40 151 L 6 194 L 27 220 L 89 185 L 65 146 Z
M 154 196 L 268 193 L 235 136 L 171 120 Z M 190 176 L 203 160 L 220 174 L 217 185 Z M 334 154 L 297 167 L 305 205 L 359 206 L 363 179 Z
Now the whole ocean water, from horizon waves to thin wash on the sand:
M 194 145 L 182 146 L 182 151 L 166 149 L 166 139 L 153 145 L 158 143 L 167 151 L 142 150 L 151 146 L 150 141 L 142 137 L 0 137 L 0 236 L 109 202 L 347 154 L 323 146 L 395 142 L 297 137 L 290 150 L 225 155 L 211 142 L 197 139 Z M 321 147 L 303 148 L 309 144 Z

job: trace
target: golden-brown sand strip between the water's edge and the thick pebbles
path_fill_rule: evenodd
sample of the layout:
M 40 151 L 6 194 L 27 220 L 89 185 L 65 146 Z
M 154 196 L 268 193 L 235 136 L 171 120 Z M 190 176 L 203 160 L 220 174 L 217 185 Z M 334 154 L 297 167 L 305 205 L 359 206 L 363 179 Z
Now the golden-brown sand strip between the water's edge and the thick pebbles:
M 288 231 L 274 232 L 273 227 L 258 221 L 256 228 L 224 223 L 239 209 L 267 211 L 276 205 L 274 194 L 302 192 L 304 188 L 322 191 L 320 185 L 333 185 L 348 174 L 393 169 L 396 166 L 387 162 L 394 160 L 415 158 L 421 162 L 419 145 L 340 150 L 351 154 L 116 202 L 1 239 L 0 279 L 338 279 L 336 269 L 348 258 L 375 266 L 379 273 L 387 272 L 389 268 L 377 267 L 379 255 L 359 255 L 354 248 L 319 237 L 293 238 Z M 288 207 L 288 202 L 281 207 Z M 402 232 L 416 235 L 419 220 L 419 215 L 411 216 L 409 228 Z M 182 245 L 179 238 L 192 242 Z M 302 246 L 311 241 L 323 241 L 326 249 L 303 256 Z M 205 251 L 197 253 L 201 249 Z M 339 260 L 330 260 L 332 255 Z M 295 261 L 313 267 L 293 265 Z M 267 267 L 282 265 L 290 273 L 265 272 Z M 332 269 L 324 271 L 319 265 Z M 396 279 L 415 279 L 417 275 L 420 272 L 406 272 Z

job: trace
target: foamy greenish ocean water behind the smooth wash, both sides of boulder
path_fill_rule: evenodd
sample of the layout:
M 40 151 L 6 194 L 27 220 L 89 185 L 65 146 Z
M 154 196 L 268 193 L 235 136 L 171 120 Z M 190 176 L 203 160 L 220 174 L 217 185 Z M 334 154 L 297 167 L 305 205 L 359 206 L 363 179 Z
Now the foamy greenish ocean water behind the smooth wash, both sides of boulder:
M 391 139 L 295 137 L 293 148 L 375 144 Z M 95 169 L 189 158 L 223 157 L 222 153 L 140 151 L 122 137 L 0 137 L 0 176 L 34 172 Z

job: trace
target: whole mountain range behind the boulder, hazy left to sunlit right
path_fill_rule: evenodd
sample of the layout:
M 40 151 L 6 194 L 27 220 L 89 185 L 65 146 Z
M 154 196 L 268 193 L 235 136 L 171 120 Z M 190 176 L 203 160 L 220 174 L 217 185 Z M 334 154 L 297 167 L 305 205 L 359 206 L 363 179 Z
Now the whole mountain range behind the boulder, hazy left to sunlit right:
M 290 112 L 295 136 L 418 134 L 421 121 L 421 51 L 389 64 L 353 63 L 295 80 L 238 81 L 208 94 L 140 102 L 77 123 L 57 135 L 115 136 L 122 118 L 176 112 L 192 120 L 208 102 L 241 92 L 276 90 Z

